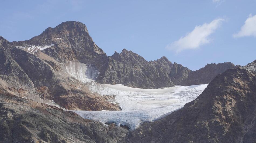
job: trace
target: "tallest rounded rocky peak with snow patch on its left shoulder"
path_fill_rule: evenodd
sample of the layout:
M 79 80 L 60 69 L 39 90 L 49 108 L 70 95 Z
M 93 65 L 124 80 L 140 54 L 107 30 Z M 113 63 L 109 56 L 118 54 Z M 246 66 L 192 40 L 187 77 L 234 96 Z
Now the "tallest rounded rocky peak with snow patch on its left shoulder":
M 94 65 L 97 59 L 107 57 L 89 36 L 85 24 L 76 21 L 62 22 L 54 28 L 49 27 L 30 40 L 12 42 L 12 46 L 30 54 L 38 55 L 41 51 L 58 62 L 78 60 Z

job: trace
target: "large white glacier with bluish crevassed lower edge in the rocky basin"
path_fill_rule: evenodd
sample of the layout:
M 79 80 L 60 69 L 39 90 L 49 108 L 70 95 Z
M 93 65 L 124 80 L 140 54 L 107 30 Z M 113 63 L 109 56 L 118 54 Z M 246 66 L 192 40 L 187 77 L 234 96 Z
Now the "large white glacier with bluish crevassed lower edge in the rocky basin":
M 91 83 L 90 90 L 100 95 L 115 95 L 122 111 L 74 111 L 83 118 L 102 123 L 126 125 L 135 130 L 144 122 L 152 122 L 182 108 L 196 99 L 208 84 L 174 86 L 163 89 L 140 89 L 124 85 Z

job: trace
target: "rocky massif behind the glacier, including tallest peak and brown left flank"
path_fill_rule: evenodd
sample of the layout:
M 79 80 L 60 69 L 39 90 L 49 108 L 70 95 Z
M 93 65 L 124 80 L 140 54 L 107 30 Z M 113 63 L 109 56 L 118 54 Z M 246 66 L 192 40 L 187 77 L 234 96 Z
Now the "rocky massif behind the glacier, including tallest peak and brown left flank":
M 0 37 L 0 83 L 13 95 L 42 103 L 56 103 L 68 110 L 119 110 L 112 99 L 89 91 L 88 82 L 123 84 L 134 88 L 163 88 L 209 83 L 233 67 L 191 71 L 166 57 L 146 61 L 123 49 L 107 56 L 81 22 L 62 22 L 30 40 L 8 42 Z M 215 66 L 216 65 L 216 66 Z M 201 74 L 203 73 L 203 74 Z

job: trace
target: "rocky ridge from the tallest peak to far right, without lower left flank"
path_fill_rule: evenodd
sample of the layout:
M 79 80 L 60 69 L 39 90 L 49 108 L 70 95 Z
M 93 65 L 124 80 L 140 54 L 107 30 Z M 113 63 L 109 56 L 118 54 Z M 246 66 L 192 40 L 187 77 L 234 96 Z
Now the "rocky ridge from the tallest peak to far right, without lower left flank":
M 62 22 L 54 28 L 30 40 L 11 42 L 16 47 L 37 55 L 55 70 L 70 61 L 82 62 L 97 69 L 95 80 L 102 84 L 123 84 L 135 88 L 162 88 L 174 85 L 195 85 L 209 83 L 217 74 L 233 68 L 232 63 L 210 64 L 197 71 L 181 68 L 162 57 L 146 61 L 140 55 L 123 49 L 107 56 L 89 36 L 87 27 L 81 22 Z M 178 65 L 178 66 L 176 66 Z

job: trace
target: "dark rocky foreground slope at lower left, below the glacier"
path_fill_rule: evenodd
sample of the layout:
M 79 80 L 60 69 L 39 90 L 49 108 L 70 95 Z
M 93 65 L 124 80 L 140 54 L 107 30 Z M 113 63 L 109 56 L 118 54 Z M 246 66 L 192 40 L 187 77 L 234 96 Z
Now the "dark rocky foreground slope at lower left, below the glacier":
M 72 111 L 0 93 L 0 142 L 126 142 L 127 129 Z

